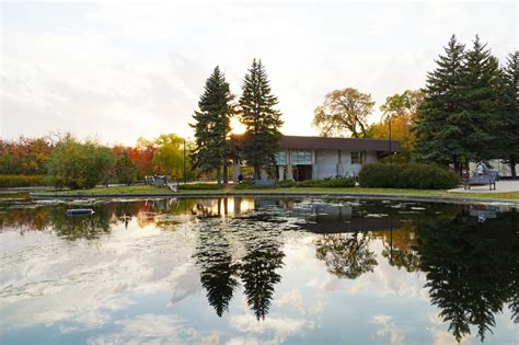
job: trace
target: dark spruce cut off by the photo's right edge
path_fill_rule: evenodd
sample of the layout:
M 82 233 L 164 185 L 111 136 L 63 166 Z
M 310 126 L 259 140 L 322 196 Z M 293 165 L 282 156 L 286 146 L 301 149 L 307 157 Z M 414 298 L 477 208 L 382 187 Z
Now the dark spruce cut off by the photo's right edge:
M 501 158 L 510 165 L 511 176 L 517 177 L 516 164 L 519 163 L 519 104 L 517 66 L 518 53 L 508 55 L 506 66 L 503 68 L 503 120 L 497 128 L 498 134 L 496 158 Z

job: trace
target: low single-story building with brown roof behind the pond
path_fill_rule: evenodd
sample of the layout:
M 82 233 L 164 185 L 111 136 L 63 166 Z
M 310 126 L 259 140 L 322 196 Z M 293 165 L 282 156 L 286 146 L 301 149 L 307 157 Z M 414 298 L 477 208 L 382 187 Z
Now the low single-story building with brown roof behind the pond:
M 397 140 L 284 136 L 276 154 L 279 181 L 354 176 L 366 163 L 402 152 Z

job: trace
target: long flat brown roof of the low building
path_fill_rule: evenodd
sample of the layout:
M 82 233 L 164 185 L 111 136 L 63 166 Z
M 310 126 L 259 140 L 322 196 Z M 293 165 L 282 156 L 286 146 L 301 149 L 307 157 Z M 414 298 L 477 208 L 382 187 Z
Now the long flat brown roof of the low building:
M 389 140 L 282 136 L 279 142 L 281 149 L 335 149 L 349 151 L 385 151 L 389 152 Z M 402 152 L 397 140 L 391 140 L 391 151 Z

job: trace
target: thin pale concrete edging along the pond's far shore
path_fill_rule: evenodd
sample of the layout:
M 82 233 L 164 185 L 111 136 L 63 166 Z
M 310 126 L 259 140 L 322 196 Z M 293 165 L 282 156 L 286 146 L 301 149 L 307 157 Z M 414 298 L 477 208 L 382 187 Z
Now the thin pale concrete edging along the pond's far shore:
M 419 194 L 400 194 L 400 193 L 326 193 L 326 192 L 254 192 L 254 193 L 124 193 L 124 194 L 49 194 L 49 193 L 31 193 L 30 197 L 35 199 L 71 199 L 71 198 L 155 198 L 155 197 L 176 197 L 176 198 L 210 198 L 210 197 L 229 197 L 229 196 L 276 196 L 276 197 L 341 197 L 341 198 L 371 198 L 371 199 L 394 199 L 394 200 L 413 200 L 413 202 L 438 202 L 438 203 L 463 203 L 463 204 L 512 204 L 519 205 L 519 199 L 500 199 L 500 198 L 483 198 L 466 196 L 448 196 L 448 195 L 419 195 Z

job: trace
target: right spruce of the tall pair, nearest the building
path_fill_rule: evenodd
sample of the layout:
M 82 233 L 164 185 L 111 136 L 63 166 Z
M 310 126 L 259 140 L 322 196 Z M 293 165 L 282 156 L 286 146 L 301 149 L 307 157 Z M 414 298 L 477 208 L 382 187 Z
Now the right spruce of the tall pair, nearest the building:
M 278 100 L 272 94 L 267 73 L 262 61 L 254 59 L 245 74 L 240 97 L 241 122 L 245 125 L 243 158 L 254 166 L 254 177 L 260 170 L 275 162 L 279 151 L 282 122 L 281 113 L 274 108 Z

